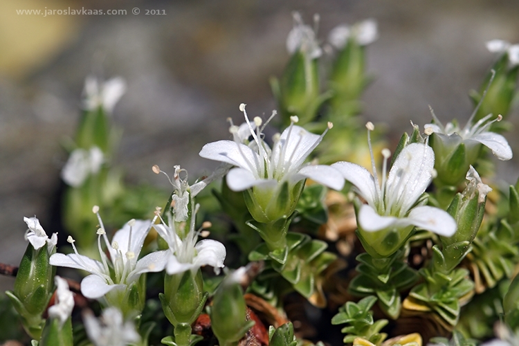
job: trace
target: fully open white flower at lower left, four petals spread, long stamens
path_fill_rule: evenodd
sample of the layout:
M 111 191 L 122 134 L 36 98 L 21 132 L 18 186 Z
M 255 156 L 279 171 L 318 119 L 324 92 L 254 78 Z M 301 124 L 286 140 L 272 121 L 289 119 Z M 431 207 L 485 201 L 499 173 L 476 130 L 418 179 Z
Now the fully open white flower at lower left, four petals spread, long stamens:
M 95 208 L 95 207 L 94 207 Z M 130 220 L 117 231 L 109 244 L 101 218 L 98 215 L 101 228 L 98 230 L 98 249 L 101 262 L 80 255 L 74 246 L 72 237 L 67 239 L 75 253 L 64 255 L 55 253 L 50 258 L 53 266 L 66 266 L 82 269 L 91 275 L 81 282 L 81 293 L 86 298 L 98 299 L 112 290 L 124 290 L 134 284 L 142 273 L 162 271 L 165 266 L 166 251 L 156 251 L 138 259 L 145 237 L 152 228 L 153 221 Z M 107 246 L 110 257 L 104 254 L 101 247 L 101 237 Z M 109 262 L 111 262 L 109 264 Z

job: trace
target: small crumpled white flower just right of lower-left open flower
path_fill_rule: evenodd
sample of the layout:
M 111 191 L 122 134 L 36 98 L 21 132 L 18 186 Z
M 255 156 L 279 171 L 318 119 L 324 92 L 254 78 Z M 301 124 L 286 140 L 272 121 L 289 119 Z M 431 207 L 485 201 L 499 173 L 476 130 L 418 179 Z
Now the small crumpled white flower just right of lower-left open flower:
M 219 273 L 224 267 L 226 248 L 224 244 L 212 239 L 203 239 L 197 242 L 201 230 L 194 229 L 195 216 L 198 206 L 194 207 L 193 216 L 189 225 L 188 234 L 181 239 L 175 228 L 173 219 L 167 226 L 161 219 L 161 225 L 155 225 L 155 229 L 169 246 L 167 251 L 166 273 L 169 275 L 183 273 L 185 271 L 197 271 L 201 266 L 212 266 L 215 273 Z M 183 225 L 185 226 L 185 225 Z

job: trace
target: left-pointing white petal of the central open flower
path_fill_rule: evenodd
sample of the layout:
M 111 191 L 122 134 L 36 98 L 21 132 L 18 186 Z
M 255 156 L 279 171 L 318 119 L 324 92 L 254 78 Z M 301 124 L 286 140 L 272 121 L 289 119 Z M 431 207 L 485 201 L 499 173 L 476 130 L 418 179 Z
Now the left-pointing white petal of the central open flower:
M 203 158 L 230 163 L 257 174 L 260 157 L 250 147 L 232 140 L 219 140 L 204 145 L 199 152 Z

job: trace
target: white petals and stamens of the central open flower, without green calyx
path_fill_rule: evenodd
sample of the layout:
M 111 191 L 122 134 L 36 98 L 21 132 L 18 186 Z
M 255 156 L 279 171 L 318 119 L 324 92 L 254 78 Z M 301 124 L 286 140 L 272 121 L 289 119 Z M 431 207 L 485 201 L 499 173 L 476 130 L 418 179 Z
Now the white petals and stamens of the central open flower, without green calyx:
M 235 165 L 227 174 L 227 184 L 233 191 L 243 191 L 257 186 L 265 190 L 276 190 L 284 182 L 294 185 L 305 178 L 313 179 L 329 188 L 340 190 L 344 180 L 334 168 L 327 165 L 305 165 L 304 161 L 317 147 L 325 135 L 311 134 L 294 125 L 297 117 L 291 117 L 291 125 L 275 138 L 271 149 L 263 140 L 262 129 L 254 131 L 245 111 L 240 105 L 253 141 L 247 146 L 241 141 L 219 140 L 203 146 L 199 155 L 210 160 Z M 262 123 L 258 117 L 256 124 Z M 329 123 L 331 128 L 331 123 Z

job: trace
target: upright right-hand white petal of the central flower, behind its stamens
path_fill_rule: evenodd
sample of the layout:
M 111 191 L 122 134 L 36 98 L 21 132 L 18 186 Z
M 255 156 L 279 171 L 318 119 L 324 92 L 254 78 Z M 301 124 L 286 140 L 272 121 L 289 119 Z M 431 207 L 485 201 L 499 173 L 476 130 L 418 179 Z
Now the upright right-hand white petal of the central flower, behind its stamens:
M 322 136 L 312 134 L 300 126 L 291 125 L 274 144 L 271 162 L 274 167 L 279 167 L 282 161 L 285 172 L 298 170 L 321 140 Z

